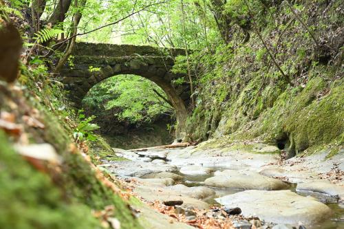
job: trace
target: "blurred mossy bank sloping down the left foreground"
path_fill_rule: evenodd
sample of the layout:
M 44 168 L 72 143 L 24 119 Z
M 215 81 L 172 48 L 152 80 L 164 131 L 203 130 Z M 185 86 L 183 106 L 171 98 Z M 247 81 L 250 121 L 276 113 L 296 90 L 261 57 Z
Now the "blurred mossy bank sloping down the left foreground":
M 106 186 L 97 175 L 99 171 L 85 160 L 91 157 L 97 164 L 101 157 L 113 154 L 109 145 L 99 139 L 77 149 L 72 143 L 76 127 L 73 112 L 57 109 L 65 105 L 63 96 L 54 96 L 61 95 L 60 89 L 38 89 L 31 85 L 35 81 L 30 73 L 24 74 L 28 89 L 11 89 L 0 83 L 0 111 L 10 113 L 23 129 L 20 139 L 0 129 L 0 228 L 103 228 L 103 219 L 96 218 L 94 212 L 107 206 L 113 206 L 109 217 L 118 219 L 121 228 L 141 228 L 129 201 Z M 33 114 L 44 124 L 43 129 L 25 122 L 23 117 Z M 42 172 L 14 151 L 12 146 L 18 142 L 24 147 L 51 144 L 62 163 L 48 164 L 47 171 Z

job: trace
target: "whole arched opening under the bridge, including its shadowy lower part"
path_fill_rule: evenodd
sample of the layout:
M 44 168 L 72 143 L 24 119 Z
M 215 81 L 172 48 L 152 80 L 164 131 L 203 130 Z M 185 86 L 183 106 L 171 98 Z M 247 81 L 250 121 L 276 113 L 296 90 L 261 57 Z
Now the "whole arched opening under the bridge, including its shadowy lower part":
M 171 144 L 175 109 L 164 90 L 147 78 L 118 75 L 100 81 L 83 98 L 86 116 L 95 116 L 98 130 L 122 149 Z

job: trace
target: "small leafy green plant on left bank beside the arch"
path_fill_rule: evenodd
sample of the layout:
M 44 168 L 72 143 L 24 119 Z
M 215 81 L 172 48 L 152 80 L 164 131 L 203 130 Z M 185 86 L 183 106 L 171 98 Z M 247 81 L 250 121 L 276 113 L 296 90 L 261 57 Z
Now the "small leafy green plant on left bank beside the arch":
M 73 133 L 73 138 L 76 142 L 83 140 L 94 142 L 97 140 L 97 136 L 94 135 L 93 131 L 100 127 L 97 124 L 91 123 L 94 118 L 96 118 L 96 116 L 86 118 L 85 114 L 83 114 L 83 110 L 78 111 L 78 119 L 80 122 Z

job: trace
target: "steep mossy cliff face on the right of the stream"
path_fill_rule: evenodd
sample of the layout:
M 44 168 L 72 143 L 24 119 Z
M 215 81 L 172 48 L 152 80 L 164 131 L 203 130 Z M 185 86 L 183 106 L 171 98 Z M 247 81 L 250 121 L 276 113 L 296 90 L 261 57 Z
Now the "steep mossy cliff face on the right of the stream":
M 191 140 L 269 142 L 286 149 L 288 157 L 324 146 L 333 153 L 343 145 L 344 86 L 338 57 L 343 55 L 343 38 L 336 34 L 344 26 L 340 1 L 298 1 L 294 7 L 332 51 L 320 52 L 285 2 L 266 9 L 255 27 L 292 85 L 255 32 L 243 44 L 237 30 L 230 44 L 202 58 L 198 105 L 187 122 Z

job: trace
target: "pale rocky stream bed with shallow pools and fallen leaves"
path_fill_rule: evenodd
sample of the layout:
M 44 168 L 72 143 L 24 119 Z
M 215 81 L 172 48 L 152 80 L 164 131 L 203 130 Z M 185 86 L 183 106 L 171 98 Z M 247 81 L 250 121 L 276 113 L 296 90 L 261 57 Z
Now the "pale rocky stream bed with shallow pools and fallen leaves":
M 126 151 L 103 161 L 143 202 L 147 228 L 343 228 L 341 153 L 281 160 L 267 144 Z M 160 216 L 159 216 L 160 215 Z M 184 223 L 181 224 L 180 222 Z

